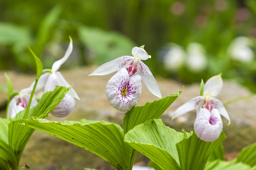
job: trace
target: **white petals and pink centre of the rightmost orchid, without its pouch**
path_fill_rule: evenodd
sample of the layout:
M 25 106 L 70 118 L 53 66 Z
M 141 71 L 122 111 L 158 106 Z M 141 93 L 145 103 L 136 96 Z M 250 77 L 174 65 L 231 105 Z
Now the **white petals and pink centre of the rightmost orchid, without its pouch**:
M 172 120 L 175 117 L 183 115 L 194 109 L 196 109 L 196 115 L 197 115 L 200 108 L 203 106 L 204 108 L 207 108 L 207 109 L 209 109 L 210 107 L 217 109 L 220 115 L 228 119 L 228 125 L 229 125 L 230 118 L 228 116 L 228 112 L 226 111 L 225 107 L 223 106 L 220 100 L 213 98 L 220 93 L 222 86 L 223 86 L 223 80 L 221 78 L 221 74 L 209 78 L 209 80 L 207 80 L 204 85 L 204 95 L 197 96 L 187 101 L 182 106 L 180 106 L 174 112 L 172 116 Z

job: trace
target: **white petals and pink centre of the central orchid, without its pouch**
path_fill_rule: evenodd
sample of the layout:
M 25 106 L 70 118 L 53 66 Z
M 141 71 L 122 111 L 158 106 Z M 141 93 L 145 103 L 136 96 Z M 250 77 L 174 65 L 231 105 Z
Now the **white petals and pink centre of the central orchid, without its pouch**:
M 140 75 L 148 90 L 157 97 L 162 98 L 160 89 L 156 83 L 156 79 L 149 70 L 148 66 L 141 61 L 147 60 L 148 58 L 151 58 L 151 56 L 148 55 L 143 48 L 139 47 L 132 48 L 132 55 L 134 57 L 126 55 L 105 63 L 94 70 L 89 76 L 106 75 L 125 68 L 128 70 L 130 76 L 134 74 Z

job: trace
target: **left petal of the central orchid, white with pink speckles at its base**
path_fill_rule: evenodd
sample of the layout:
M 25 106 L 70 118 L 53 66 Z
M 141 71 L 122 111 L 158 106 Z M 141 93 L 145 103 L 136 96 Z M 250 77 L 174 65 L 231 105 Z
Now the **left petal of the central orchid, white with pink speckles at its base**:
M 132 56 L 122 56 L 118 57 L 108 63 L 102 64 L 100 67 L 98 67 L 96 70 L 94 70 L 89 76 L 94 75 L 107 75 L 110 73 L 113 73 L 115 71 L 119 71 L 122 68 L 127 68 L 128 65 L 130 65 L 133 61 L 134 57 Z

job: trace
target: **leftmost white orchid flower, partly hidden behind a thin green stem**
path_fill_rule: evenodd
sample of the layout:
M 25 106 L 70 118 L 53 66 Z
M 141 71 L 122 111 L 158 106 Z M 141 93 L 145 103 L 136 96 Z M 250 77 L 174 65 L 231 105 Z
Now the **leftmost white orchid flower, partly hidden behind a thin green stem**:
M 29 101 L 30 93 L 32 92 L 32 90 L 33 90 L 33 86 L 32 88 L 29 87 L 26 89 L 22 89 L 18 95 L 12 98 L 8 106 L 7 118 L 14 118 L 19 112 L 21 112 L 22 110 L 25 110 L 28 107 L 28 101 Z M 36 105 L 37 105 L 37 101 L 34 98 L 32 98 L 30 108 Z

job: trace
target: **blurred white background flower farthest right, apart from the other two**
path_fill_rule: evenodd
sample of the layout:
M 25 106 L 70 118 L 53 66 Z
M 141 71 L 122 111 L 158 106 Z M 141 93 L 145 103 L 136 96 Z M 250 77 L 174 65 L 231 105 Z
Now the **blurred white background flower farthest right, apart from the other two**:
M 244 36 L 236 37 L 228 46 L 228 55 L 237 61 L 250 62 L 254 58 L 253 41 Z

